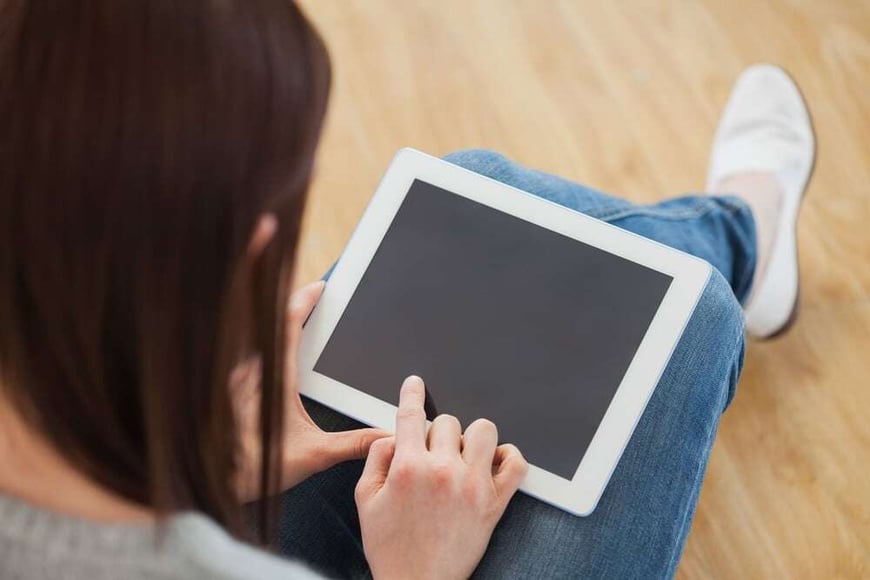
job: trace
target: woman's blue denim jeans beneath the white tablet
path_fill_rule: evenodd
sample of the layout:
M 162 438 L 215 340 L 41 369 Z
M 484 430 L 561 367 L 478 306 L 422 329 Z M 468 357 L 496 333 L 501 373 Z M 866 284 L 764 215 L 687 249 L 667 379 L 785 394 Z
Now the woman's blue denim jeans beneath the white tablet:
M 635 205 L 489 151 L 462 151 L 447 159 L 715 266 L 597 509 L 576 517 L 518 493 L 475 572 L 481 578 L 673 576 L 719 418 L 734 397 L 743 364 L 740 302 L 755 267 L 748 207 L 712 196 Z M 360 426 L 313 401 L 306 407 L 324 429 Z M 338 465 L 282 497 L 285 554 L 333 576 L 368 574 L 353 500 L 362 465 Z

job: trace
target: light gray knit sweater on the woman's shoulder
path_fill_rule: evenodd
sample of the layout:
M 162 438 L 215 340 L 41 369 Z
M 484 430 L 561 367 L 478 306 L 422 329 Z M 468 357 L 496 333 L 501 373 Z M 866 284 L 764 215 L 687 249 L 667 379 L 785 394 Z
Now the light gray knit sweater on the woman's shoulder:
M 162 529 L 161 529 L 162 528 Z M 158 530 L 163 535 L 158 537 Z M 0 494 L 0 579 L 321 578 L 242 544 L 205 516 L 99 524 Z

